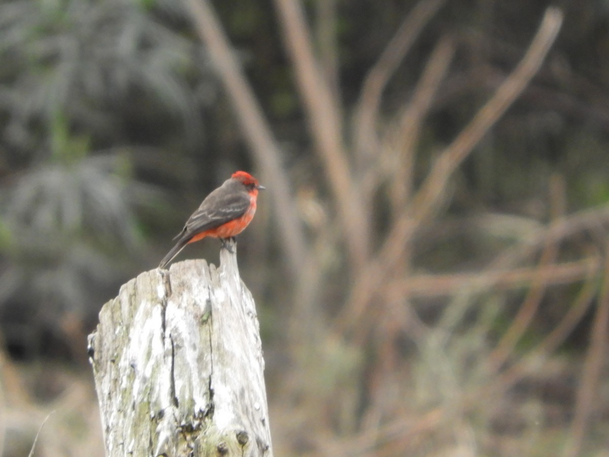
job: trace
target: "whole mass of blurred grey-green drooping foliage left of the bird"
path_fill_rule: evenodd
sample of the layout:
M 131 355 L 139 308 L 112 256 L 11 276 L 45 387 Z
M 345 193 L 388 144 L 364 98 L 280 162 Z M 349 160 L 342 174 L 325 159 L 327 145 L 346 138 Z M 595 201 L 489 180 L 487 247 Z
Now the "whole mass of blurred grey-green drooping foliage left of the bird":
M 140 214 L 158 218 L 161 200 L 147 158 L 201 140 L 205 101 L 192 94 L 214 90 L 165 3 L 0 2 L 0 308 L 86 317 L 103 302 L 88 293 L 141 263 Z

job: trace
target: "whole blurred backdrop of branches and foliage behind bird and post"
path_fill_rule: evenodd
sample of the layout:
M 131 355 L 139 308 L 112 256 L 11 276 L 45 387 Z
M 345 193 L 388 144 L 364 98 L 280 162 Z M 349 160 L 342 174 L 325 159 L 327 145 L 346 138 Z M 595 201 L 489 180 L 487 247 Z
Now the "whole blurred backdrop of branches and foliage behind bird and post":
M 246 169 L 275 455 L 608 456 L 609 2 L 548 5 L 1 1 L 0 455 L 103 455 L 86 335 Z

